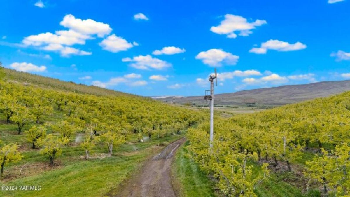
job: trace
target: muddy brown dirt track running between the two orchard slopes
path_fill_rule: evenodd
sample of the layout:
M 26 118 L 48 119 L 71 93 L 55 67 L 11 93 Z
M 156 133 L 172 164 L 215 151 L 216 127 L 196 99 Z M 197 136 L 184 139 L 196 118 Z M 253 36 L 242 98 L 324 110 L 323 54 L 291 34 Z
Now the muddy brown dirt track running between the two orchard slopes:
M 170 167 L 176 149 L 185 141 L 181 138 L 149 159 L 138 174 L 120 186 L 116 197 L 175 197 Z

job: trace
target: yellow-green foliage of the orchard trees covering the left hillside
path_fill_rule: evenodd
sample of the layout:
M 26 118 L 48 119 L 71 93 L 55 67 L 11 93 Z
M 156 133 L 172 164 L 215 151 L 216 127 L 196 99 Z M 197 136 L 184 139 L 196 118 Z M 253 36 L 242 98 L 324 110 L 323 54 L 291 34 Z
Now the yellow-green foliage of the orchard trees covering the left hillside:
M 44 147 L 47 147 L 47 143 L 58 144 L 57 150 L 47 150 L 47 148 L 42 150 L 43 154 L 49 155 L 51 165 L 54 156 L 61 152 L 59 147 L 66 144 L 63 142 L 71 140 L 78 132 L 84 133 L 88 127 L 91 127 L 93 136 L 89 134 L 90 139 L 89 137 L 84 138 L 82 147 L 86 151 L 86 157 L 94 145 L 99 143 L 97 139 L 103 140 L 102 143 L 108 145 L 111 155 L 113 145 L 116 147 L 124 143 L 130 133 L 142 133 L 147 130 L 151 133 L 158 133 L 161 137 L 170 128 L 173 128 L 174 124 L 181 123 L 183 127 L 186 127 L 203 120 L 201 111 L 191 111 L 148 98 L 119 94 L 97 87 L 87 88 L 85 86 L 86 89 L 79 89 L 82 86 L 76 84 L 66 87 L 67 82 L 45 77 L 37 77 L 37 80 L 41 80 L 41 85 L 57 82 L 55 84 L 57 87 L 45 86 L 42 88 L 42 86 L 38 87 L 38 84 L 21 84 L 18 81 L 27 78 L 36 81 L 36 76 L 8 69 L 5 71 L 10 72 L 10 75 L 0 81 L 0 112 L 5 115 L 2 117 L 6 118 L 4 121 L 7 123 L 16 124 L 18 134 L 21 134 L 23 128 L 45 123 L 44 128 L 42 126 L 32 127 L 26 131 L 26 136 L 33 148 L 36 144 L 41 147 L 45 143 Z M 18 81 L 6 80 L 13 76 L 17 76 L 14 79 Z M 20 76 L 24 78 L 20 79 Z M 65 88 L 62 88 L 61 85 Z M 92 94 L 62 91 L 62 89 L 76 88 L 79 89 L 79 92 Z M 95 88 L 99 91 L 90 91 Z M 56 114 L 55 120 L 52 120 L 54 117 L 50 117 L 53 114 Z M 59 114 L 58 119 L 57 114 Z M 47 129 L 54 135 L 44 137 L 44 130 Z

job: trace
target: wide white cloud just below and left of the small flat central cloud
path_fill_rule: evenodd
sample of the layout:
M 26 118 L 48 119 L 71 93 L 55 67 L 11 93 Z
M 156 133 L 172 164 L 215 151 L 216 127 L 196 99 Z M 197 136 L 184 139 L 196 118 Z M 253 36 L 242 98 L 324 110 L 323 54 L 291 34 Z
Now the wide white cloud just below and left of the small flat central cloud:
M 172 64 L 160 60 L 158 58 L 153 58 L 151 55 L 139 55 L 136 57 L 133 57 L 132 59 L 129 57 L 123 58 L 121 61 L 123 62 L 133 62 L 130 63 L 131 67 L 142 69 L 142 70 L 149 70 L 151 68 L 161 70 L 168 67 L 171 67 Z

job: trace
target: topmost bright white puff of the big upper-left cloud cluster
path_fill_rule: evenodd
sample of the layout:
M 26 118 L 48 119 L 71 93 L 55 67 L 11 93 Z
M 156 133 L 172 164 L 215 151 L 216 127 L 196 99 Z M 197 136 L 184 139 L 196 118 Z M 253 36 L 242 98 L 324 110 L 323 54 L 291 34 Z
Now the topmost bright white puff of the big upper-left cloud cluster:
M 100 38 L 105 35 L 109 35 L 112 31 L 109 24 L 96 22 L 92 19 L 77 19 L 72 14 L 65 15 L 59 24 L 63 27 L 67 27 L 85 35 L 97 34 L 97 36 Z

